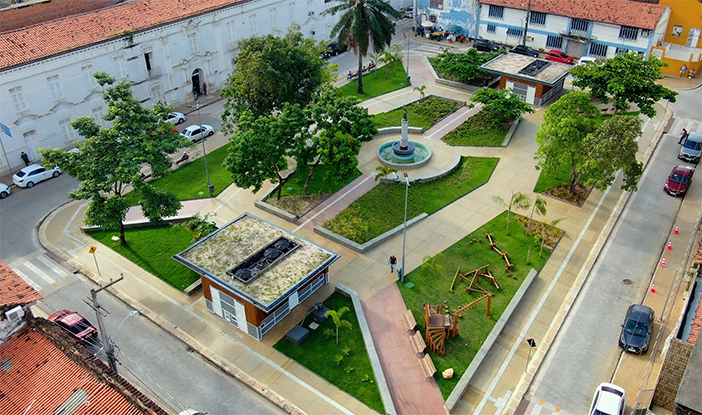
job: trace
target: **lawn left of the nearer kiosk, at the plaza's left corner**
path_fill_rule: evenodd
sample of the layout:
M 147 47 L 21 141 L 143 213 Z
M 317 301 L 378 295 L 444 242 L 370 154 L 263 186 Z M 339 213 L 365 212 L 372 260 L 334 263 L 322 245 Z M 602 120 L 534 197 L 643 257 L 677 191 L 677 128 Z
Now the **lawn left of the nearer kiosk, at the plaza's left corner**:
M 127 246 L 111 239 L 113 235 L 119 236 L 118 231 L 96 231 L 88 235 L 181 291 L 200 278 L 171 259 L 195 242 L 190 231 L 182 226 L 127 229 Z

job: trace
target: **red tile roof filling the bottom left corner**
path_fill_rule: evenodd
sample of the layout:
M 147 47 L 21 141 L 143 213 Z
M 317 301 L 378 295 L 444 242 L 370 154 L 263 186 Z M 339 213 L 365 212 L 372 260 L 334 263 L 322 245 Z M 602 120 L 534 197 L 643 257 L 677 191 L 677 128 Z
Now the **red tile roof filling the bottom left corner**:
M 116 390 L 98 382 L 29 327 L 0 344 L 0 360 L 0 408 L 4 414 L 24 414 L 25 410 L 27 415 L 53 414 L 78 389 L 88 397 L 73 415 L 141 414 Z

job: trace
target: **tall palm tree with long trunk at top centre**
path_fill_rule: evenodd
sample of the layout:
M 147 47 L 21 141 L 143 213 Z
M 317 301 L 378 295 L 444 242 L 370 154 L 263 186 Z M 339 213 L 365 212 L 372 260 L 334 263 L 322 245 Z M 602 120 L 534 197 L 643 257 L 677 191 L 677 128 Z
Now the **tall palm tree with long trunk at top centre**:
M 339 36 L 339 46 L 349 40 L 356 42 L 358 53 L 358 93 L 363 93 L 363 58 L 369 50 L 380 52 L 390 45 L 395 26 L 388 16 L 400 19 L 402 15 L 384 0 L 324 0 L 325 3 L 340 1 L 322 14 L 342 13 L 339 22 L 332 28 L 332 36 Z M 372 48 L 371 48 L 372 46 Z

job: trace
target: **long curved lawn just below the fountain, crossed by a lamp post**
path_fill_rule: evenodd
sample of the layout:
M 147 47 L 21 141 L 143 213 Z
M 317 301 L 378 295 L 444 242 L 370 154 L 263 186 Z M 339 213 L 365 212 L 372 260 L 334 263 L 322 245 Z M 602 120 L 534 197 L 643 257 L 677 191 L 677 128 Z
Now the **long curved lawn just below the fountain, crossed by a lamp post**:
M 412 183 L 407 219 L 423 212 L 432 214 L 487 183 L 498 161 L 498 158 L 462 157 L 449 175 L 433 182 Z M 404 221 L 404 204 L 404 184 L 381 184 L 324 223 L 324 227 L 362 244 L 401 225 Z

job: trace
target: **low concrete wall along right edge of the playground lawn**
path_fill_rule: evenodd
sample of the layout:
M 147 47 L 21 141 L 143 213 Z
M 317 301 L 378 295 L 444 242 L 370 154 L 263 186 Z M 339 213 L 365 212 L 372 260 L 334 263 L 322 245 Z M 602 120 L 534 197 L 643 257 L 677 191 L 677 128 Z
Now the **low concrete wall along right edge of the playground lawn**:
M 463 396 L 466 389 L 468 389 L 468 385 L 470 385 L 470 381 L 473 378 L 473 375 L 475 375 L 475 373 L 478 371 L 478 368 L 483 363 L 483 360 L 485 360 L 488 353 L 490 353 L 490 349 L 492 349 L 492 346 L 497 341 L 497 338 L 499 337 L 500 333 L 502 333 L 502 329 L 504 329 L 505 325 L 507 325 L 507 322 L 512 316 L 512 313 L 522 301 L 522 298 L 529 290 L 529 287 L 531 287 L 531 283 L 534 282 L 534 279 L 536 279 L 537 275 L 539 274 L 536 272 L 535 269 L 532 268 L 531 271 L 529 271 L 529 274 L 517 290 L 517 293 L 512 298 L 512 301 L 509 302 L 509 305 L 505 309 L 505 312 L 502 313 L 502 315 L 500 316 L 500 320 L 498 320 L 497 324 L 495 324 L 495 327 L 493 327 L 492 331 L 485 339 L 485 342 L 480 347 L 480 350 L 478 350 L 478 353 L 473 358 L 473 361 L 470 362 L 468 369 L 466 369 L 466 372 L 463 374 L 463 376 L 461 376 L 461 380 L 458 381 L 458 384 L 453 389 L 448 399 L 446 399 L 446 407 L 448 408 L 449 412 L 455 409 L 456 404 L 458 404 L 458 401 L 461 399 L 461 396 Z

